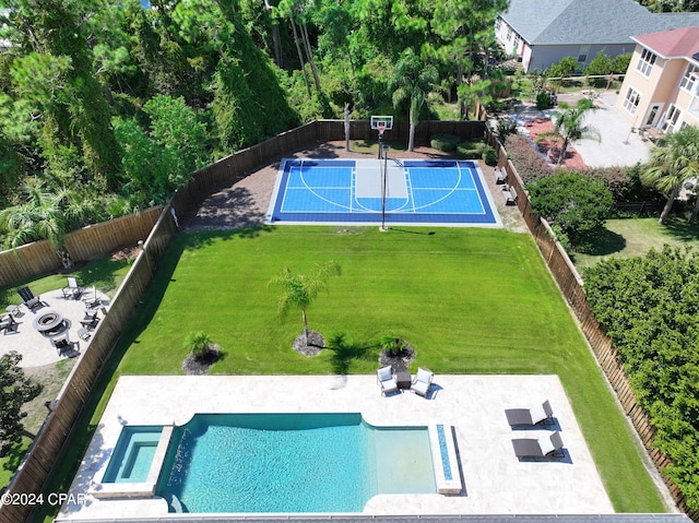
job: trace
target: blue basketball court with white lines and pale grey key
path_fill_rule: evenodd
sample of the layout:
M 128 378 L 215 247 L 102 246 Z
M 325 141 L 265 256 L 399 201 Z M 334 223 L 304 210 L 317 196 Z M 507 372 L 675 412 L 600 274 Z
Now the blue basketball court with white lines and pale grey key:
M 502 225 L 477 163 L 400 158 L 285 158 L 266 223 Z

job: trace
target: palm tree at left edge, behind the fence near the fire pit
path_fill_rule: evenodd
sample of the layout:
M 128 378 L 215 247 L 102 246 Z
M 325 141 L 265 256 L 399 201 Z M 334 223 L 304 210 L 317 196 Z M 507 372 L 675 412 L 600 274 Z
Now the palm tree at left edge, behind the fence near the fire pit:
M 45 190 L 40 181 L 24 186 L 24 203 L 0 211 L 0 230 L 4 234 L 4 248 L 14 249 L 31 241 L 46 239 L 56 249 L 66 269 L 73 264 L 63 245 L 72 214 L 80 206 L 70 205 L 68 191 L 57 193 Z

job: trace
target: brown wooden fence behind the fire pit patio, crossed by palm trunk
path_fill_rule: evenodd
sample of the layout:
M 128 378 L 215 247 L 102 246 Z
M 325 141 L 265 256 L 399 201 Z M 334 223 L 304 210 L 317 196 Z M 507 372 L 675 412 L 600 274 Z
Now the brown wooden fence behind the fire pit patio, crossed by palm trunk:
M 163 207 L 157 206 L 69 233 L 64 239 L 66 248 L 73 261 L 79 261 L 93 260 L 119 247 L 135 245 L 149 236 L 162 211 Z M 61 268 L 60 258 L 46 240 L 3 251 L 0 252 L 0 287 Z

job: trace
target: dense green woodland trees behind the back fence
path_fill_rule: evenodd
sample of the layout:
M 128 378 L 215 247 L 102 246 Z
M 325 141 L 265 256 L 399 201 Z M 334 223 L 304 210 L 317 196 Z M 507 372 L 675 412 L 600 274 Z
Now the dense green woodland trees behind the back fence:
M 0 209 L 38 179 L 98 210 L 70 223 L 85 225 L 162 203 L 196 168 L 345 105 L 415 123 L 433 92 L 466 104 L 494 78 L 507 1 L 151 4 L 4 1 Z

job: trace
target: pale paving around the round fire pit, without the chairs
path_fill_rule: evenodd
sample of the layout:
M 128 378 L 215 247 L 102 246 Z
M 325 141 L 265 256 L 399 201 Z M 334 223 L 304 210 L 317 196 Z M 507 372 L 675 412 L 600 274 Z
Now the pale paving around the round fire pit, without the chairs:
M 93 293 L 88 289 L 87 293 Z M 108 298 L 105 294 L 96 290 L 97 297 L 104 307 L 108 307 Z M 85 305 L 80 299 L 66 299 L 60 288 L 44 293 L 40 296 L 45 307 L 31 312 L 26 307 L 20 306 L 20 313 L 15 317 L 16 330 L 0 334 L 0 356 L 16 350 L 22 355 L 20 367 L 42 367 L 55 364 L 67 357 L 78 357 L 87 349 L 90 340 L 81 340 L 78 336 L 79 329 L 82 328 L 80 320 L 85 316 Z M 69 340 L 73 343 L 72 349 L 59 355 L 51 345 L 49 336 L 45 336 L 34 328 L 34 320 L 47 310 L 52 309 L 60 312 L 69 324 Z M 104 314 L 97 314 L 103 318 Z M 91 336 L 92 337 L 92 336 Z

